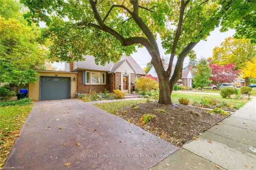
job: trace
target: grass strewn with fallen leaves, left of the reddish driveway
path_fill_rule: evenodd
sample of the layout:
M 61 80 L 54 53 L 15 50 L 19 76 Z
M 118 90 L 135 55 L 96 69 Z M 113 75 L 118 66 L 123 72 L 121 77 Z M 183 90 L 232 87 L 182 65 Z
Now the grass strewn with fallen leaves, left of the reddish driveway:
M 0 168 L 8 157 L 33 104 L 0 107 Z

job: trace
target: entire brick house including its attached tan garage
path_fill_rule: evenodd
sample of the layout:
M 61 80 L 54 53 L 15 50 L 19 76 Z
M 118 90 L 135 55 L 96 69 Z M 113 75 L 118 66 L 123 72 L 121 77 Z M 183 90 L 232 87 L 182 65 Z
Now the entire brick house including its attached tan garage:
M 132 92 L 136 78 L 146 75 L 139 64 L 123 55 L 117 63 L 95 64 L 93 56 L 84 56 L 84 61 L 65 63 L 65 72 L 37 71 L 39 81 L 29 84 L 29 97 L 33 100 L 62 99 L 75 97 L 77 92 L 113 92 L 119 89 Z

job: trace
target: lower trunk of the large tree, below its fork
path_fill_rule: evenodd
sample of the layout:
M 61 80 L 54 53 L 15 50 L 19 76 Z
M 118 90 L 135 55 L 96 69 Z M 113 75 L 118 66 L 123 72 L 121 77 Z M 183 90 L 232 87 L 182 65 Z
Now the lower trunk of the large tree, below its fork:
M 159 79 L 159 104 L 170 105 L 172 104 L 171 101 L 171 83 L 169 79 L 160 78 Z

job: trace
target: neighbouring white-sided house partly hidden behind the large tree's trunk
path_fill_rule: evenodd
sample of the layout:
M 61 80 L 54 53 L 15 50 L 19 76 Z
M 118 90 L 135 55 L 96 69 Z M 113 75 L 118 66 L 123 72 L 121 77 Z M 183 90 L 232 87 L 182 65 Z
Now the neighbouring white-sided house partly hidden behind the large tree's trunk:
M 168 68 L 168 65 L 165 65 L 165 69 Z M 175 65 L 172 66 L 172 71 L 171 71 L 171 76 L 174 72 L 175 69 Z M 181 79 L 178 80 L 177 84 L 186 86 L 186 87 L 192 87 L 193 86 L 193 74 L 191 72 L 192 66 L 188 65 L 186 67 L 183 68 L 182 70 L 182 77 Z M 150 69 L 150 71 L 148 72 L 148 74 L 151 74 L 154 77 L 157 77 L 156 74 L 156 70 L 154 68 L 154 66 Z

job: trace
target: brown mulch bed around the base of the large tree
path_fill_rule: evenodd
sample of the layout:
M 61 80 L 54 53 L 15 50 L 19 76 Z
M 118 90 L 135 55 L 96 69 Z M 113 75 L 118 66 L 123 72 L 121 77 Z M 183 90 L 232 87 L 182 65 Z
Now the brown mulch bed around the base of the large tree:
M 144 114 L 154 114 L 156 118 L 142 124 L 140 118 Z M 133 123 L 163 140 L 176 146 L 182 146 L 190 139 L 227 116 L 210 114 L 209 110 L 178 105 L 161 105 L 157 102 L 127 106 L 115 113 L 118 117 Z

